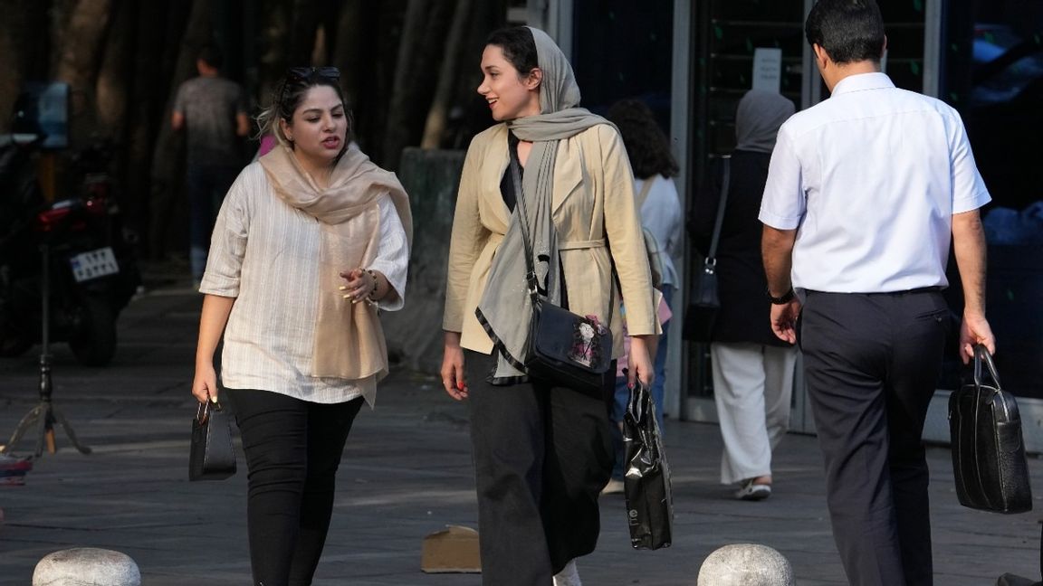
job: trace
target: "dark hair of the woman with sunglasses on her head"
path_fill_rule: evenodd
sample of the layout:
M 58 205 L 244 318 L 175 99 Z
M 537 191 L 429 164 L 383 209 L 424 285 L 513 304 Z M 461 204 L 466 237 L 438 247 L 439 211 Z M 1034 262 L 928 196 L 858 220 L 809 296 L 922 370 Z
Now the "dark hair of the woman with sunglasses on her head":
M 280 120 L 285 120 L 288 124 L 293 121 L 293 113 L 300 106 L 305 95 L 312 88 L 326 86 L 337 92 L 337 97 L 344 104 L 344 116 L 347 117 L 347 130 L 344 137 L 344 148 L 351 142 L 351 133 L 355 130 L 355 119 L 351 111 L 344 100 L 344 92 L 340 89 L 340 71 L 335 67 L 293 67 L 287 71 L 283 79 L 275 86 L 277 89 L 272 94 L 271 104 L 258 115 L 258 136 L 263 137 L 271 133 L 285 146 L 290 146 L 290 141 L 283 133 Z

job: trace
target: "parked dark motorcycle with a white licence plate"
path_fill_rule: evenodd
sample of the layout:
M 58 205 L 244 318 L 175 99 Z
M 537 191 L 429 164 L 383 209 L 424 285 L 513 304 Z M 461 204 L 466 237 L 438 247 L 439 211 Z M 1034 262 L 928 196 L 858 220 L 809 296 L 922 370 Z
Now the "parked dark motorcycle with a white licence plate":
M 49 339 L 68 342 L 83 365 L 104 366 L 116 352 L 116 319 L 141 284 L 111 181 L 96 167 L 106 146 L 73 157 L 82 188 L 52 203 L 40 194 L 31 148 L 0 141 L 0 178 L 15 179 L 0 179 L 9 212 L 8 225 L 0 225 L 0 356 L 20 356 L 42 341 L 46 296 Z

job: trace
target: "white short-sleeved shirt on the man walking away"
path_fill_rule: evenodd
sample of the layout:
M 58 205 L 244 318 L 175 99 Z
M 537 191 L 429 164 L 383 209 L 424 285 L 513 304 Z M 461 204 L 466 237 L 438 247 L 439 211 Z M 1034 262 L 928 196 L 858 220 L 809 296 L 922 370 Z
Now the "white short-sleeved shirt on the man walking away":
M 990 199 L 960 115 L 866 73 L 779 129 L 759 219 L 797 229 L 794 287 L 894 292 L 948 285 L 952 215 Z

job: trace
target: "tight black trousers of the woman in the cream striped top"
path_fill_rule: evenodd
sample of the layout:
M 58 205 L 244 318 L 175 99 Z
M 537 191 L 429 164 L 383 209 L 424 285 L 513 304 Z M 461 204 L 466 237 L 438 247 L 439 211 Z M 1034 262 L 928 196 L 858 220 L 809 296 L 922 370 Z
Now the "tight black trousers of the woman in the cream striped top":
M 247 528 L 256 586 L 307 586 L 333 513 L 337 467 L 362 397 L 333 405 L 225 389 L 248 469 Z

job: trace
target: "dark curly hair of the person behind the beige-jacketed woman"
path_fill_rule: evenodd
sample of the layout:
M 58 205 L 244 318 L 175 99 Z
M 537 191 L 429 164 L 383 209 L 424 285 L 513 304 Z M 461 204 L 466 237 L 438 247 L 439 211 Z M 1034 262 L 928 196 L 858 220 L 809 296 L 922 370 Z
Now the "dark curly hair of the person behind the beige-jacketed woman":
M 663 177 L 677 174 L 679 169 L 670 151 L 670 141 L 645 102 L 620 100 L 608 109 L 608 120 L 623 136 L 635 177 L 647 179 L 656 174 Z

